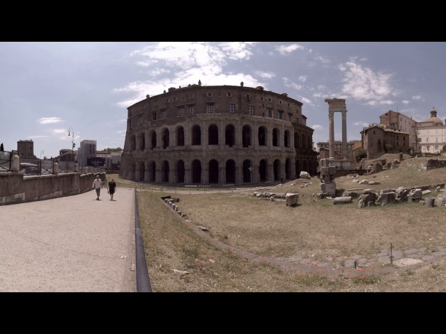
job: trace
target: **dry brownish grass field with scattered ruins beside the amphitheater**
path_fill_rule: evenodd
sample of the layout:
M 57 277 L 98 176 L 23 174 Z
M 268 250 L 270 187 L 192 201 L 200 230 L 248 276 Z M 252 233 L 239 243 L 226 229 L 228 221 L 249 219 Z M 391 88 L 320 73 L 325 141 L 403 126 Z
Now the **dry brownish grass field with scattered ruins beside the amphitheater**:
M 388 155 L 380 159 L 397 158 Z M 371 161 L 367 161 L 369 163 Z M 423 186 L 435 197 L 444 187 L 444 168 L 424 170 L 424 158 L 406 159 L 399 168 L 362 175 L 369 186 L 337 177 L 344 189 L 396 189 Z M 369 264 L 351 268 L 346 259 L 373 259 L 388 250 L 446 247 L 446 208 L 419 202 L 359 208 L 356 200 L 333 205 L 316 199 L 320 181 L 298 179 L 268 187 L 185 189 L 139 184 L 114 177 L 118 186 L 138 189 L 146 262 L 154 292 L 433 292 L 446 289 L 446 260 L 420 266 Z M 443 189 L 442 187 L 442 189 Z M 254 191 L 299 193 L 297 207 L 261 200 Z M 160 200 L 179 198 L 184 220 Z M 200 232 L 197 226 L 208 230 Z M 224 246 L 222 246 L 224 245 Z M 244 253 L 245 252 L 245 253 Z M 337 269 L 286 266 L 331 259 Z M 336 260 L 337 259 L 337 260 Z M 330 264 L 332 264 L 330 262 Z M 323 270 L 324 269 L 324 270 Z

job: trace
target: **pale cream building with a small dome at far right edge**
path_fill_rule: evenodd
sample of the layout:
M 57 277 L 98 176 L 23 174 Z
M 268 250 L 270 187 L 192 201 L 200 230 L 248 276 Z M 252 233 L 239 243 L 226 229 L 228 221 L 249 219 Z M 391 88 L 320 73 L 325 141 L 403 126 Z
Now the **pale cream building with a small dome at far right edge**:
M 423 122 L 417 122 L 416 129 L 420 138 L 417 150 L 422 154 L 443 152 L 443 146 L 446 145 L 446 125 L 437 117 L 435 108 L 431 110 L 431 117 Z

